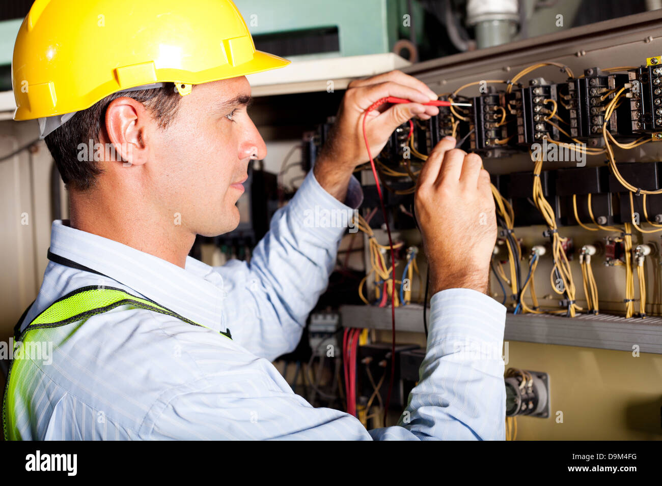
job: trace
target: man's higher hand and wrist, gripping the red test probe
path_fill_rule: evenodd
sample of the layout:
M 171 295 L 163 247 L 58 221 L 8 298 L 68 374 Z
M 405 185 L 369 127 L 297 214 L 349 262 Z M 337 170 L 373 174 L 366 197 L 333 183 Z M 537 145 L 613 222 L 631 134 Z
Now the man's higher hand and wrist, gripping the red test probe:
M 393 131 L 414 116 L 428 120 L 439 114 L 437 106 L 422 103 L 436 100 L 437 95 L 425 83 L 402 73 L 389 73 L 352 81 L 336 116 L 336 124 L 315 162 L 314 175 L 320 185 L 339 200 L 344 200 L 352 171 L 368 161 L 363 140 L 363 116 L 375 101 L 394 96 L 412 103 L 383 104 L 371 111 L 365 121 L 365 132 L 373 157 L 384 148 Z

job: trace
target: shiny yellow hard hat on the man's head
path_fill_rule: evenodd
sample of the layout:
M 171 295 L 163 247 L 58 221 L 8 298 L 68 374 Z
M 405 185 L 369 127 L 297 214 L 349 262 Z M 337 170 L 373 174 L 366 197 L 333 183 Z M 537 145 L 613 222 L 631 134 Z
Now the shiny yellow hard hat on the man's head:
M 290 61 L 255 50 L 230 0 L 36 0 L 14 47 L 14 120 L 69 114 L 124 89 L 191 85 Z

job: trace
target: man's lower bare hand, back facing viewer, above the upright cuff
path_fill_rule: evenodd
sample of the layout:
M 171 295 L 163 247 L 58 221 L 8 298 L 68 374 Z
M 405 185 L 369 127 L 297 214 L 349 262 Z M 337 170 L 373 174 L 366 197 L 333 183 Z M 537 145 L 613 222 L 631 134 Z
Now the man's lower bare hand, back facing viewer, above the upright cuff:
M 496 242 L 495 202 L 481 157 L 444 138 L 418 177 L 414 205 L 428 258 L 431 295 L 448 288 L 487 292 Z

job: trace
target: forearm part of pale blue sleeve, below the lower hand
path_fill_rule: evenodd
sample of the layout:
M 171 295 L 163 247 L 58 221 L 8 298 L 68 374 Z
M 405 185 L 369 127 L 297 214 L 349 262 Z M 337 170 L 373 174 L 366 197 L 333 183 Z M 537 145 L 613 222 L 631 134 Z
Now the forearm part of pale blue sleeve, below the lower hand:
M 397 426 L 375 440 L 504 440 L 506 387 L 502 358 L 506 307 L 469 289 L 432 296 L 420 381 Z

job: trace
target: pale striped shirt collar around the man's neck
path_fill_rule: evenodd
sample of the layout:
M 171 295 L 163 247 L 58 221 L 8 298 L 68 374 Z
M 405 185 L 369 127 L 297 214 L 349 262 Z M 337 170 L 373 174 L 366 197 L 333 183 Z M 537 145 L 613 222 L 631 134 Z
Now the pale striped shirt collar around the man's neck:
M 68 220 L 53 222 L 52 253 L 105 274 L 195 323 L 221 331 L 225 291 L 222 276 L 212 266 L 187 257 L 184 269 L 68 224 Z M 95 280 L 102 278 L 92 275 Z

